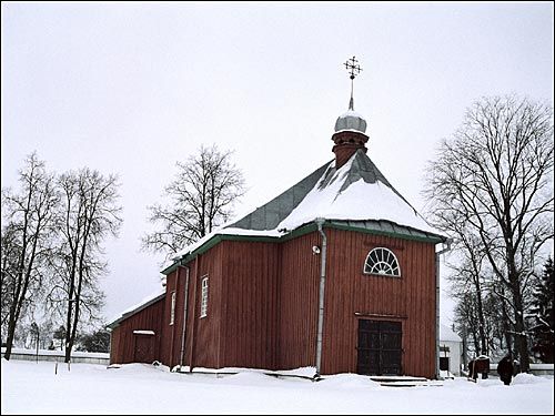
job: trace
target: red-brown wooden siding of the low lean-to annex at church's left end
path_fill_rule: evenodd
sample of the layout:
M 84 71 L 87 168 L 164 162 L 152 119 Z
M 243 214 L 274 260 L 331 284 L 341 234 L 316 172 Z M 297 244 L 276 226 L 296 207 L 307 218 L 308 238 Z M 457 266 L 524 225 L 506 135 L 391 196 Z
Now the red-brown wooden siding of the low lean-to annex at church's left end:
M 135 329 L 154 332 L 154 357 L 160 356 L 160 344 L 163 337 L 160 317 L 164 313 L 164 298 L 139 311 L 119 326 L 112 329 L 110 334 L 110 364 L 127 364 L 134 362 Z

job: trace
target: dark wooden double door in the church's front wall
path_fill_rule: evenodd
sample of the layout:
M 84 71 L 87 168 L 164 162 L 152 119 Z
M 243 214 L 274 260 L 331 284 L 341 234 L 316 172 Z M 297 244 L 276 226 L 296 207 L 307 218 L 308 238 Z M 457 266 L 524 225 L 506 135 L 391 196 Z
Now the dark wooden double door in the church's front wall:
M 359 319 L 356 373 L 401 375 L 401 322 Z

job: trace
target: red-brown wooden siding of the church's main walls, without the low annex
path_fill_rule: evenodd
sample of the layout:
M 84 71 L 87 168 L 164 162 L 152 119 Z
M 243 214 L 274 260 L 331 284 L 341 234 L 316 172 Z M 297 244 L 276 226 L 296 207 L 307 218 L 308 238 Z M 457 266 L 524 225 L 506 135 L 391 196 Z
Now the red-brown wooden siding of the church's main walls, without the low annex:
M 356 372 L 357 319 L 384 318 L 402 323 L 403 373 L 433 377 L 435 245 L 324 231 L 327 262 L 322 374 Z M 313 254 L 313 245 L 322 245 L 317 232 L 281 243 L 222 241 L 189 262 L 183 364 L 269 369 L 314 366 L 322 257 Z M 363 273 L 366 255 L 377 246 L 395 253 L 401 277 Z M 209 276 L 208 316 L 200 318 L 204 275 Z M 167 280 L 160 359 L 170 366 L 181 361 L 185 276 L 186 268 L 178 267 Z M 169 325 L 174 290 L 175 322 Z

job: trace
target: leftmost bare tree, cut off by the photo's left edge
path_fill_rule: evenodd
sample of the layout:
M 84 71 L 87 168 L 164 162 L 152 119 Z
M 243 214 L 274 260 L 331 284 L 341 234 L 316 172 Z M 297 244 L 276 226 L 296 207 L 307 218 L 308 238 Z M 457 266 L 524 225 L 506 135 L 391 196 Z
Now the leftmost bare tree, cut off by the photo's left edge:
M 2 190 L 7 225 L 2 230 L 2 325 L 6 321 L 10 359 L 18 323 L 42 285 L 41 267 L 48 257 L 58 204 L 54 177 L 32 153 L 19 172 L 21 189 Z M 6 285 L 6 293 L 4 293 Z M 4 314 L 6 311 L 6 314 Z M 6 315 L 6 316 L 4 316 Z

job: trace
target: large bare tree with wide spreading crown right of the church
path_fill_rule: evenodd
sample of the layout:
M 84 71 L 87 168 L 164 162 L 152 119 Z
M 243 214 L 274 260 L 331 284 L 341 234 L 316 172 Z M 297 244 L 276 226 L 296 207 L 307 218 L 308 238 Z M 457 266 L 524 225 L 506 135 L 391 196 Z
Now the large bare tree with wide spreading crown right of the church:
M 464 219 L 506 292 L 521 371 L 529 368 L 525 293 L 536 254 L 553 239 L 553 109 L 515 97 L 484 98 L 430 163 L 434 223 Z M 508 316 L 508 314 L 507 314 Z

